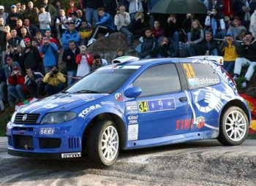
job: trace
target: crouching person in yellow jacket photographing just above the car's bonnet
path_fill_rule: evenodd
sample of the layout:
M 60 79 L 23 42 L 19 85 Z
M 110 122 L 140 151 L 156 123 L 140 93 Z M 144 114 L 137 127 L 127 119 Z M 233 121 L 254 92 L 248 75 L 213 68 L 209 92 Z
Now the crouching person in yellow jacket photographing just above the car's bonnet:
M 45 74 L 45 77 L 42 81 L 46 83 L 45 92 L 47 93 L 47 96 L 50 96 L 55 93 L 59 93 L 64 89 L 64 83 L 66 82 L 66 79 L 64 75 L 58 70 L 58 68 L 54 66 L 53 69 L 50 69 L 50 71 Z

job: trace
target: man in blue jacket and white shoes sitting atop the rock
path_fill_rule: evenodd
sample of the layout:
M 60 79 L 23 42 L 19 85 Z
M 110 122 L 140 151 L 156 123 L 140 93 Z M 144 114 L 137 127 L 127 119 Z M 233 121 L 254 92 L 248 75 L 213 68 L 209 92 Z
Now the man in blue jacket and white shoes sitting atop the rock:
M 108 36 L 109 33 L 112 33 L 115 31 L 115 25 L 113 18 L 105 12 L 104 8 L 99 8 L 99 22 L 95 23 L 94 31 L 93 31 L 93 36 L 91 37 L 90 41 L 88 44 L 91 44 L 92 42 L 97 39 L 98 34 L 102 33 L 105 34 L 105 36 Z

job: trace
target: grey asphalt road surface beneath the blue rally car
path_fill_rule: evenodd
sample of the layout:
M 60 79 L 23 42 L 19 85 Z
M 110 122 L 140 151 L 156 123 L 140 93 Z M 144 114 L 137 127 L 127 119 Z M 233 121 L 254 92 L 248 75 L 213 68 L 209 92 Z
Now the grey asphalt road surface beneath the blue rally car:
M 31 160 L 7 155 L 0 138 L 0 185 L 256 185 L 256 140 L 217 140 L 122 151 L 110 167 L 89 160 Z

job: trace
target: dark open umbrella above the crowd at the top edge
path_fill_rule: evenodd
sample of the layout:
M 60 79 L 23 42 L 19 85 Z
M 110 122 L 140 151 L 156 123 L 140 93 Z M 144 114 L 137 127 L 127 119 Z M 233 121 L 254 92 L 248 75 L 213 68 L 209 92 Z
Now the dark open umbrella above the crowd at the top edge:
M 162 14 L 206 14 L 206 7 L 198 0 L 159 0 L 150 11 Z

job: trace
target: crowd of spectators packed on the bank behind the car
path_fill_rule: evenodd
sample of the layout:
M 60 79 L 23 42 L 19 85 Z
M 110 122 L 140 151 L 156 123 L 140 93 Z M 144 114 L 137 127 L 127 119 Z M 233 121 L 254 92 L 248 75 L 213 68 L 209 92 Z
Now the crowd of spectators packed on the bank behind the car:
M 86 47 L 113 32 L 124 34 L 128 53 L 140 58 L 222 55 L 223 67 L 238 79 L 249 66 L 242 88 L 256 66 L 256 1 L 197 0 L 206 14 L 154 15 L 158 0 L 33 1 L 0 4 L 0 110 L 27 95 L 52 95 L 108 62 Z M 198 17 L 198 18 L 197 18 Z M 199 18 L 201 17 L 201 18 Z M 140 44 L 134 46 L 135 40 Z M 118 42 L 118 41 L 116 41 Z M 58 69 L 59 55 L 67 73 Z M 117 50 L 117 57 L 124 50 Z

